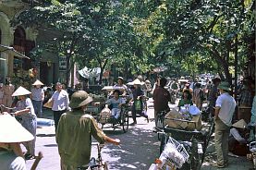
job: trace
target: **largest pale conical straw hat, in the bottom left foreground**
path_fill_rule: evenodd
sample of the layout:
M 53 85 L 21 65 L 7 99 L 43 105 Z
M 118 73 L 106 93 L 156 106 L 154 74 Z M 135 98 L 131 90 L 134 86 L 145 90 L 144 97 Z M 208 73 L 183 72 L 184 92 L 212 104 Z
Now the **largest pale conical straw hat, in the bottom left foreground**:
M 21 126 L 15 117 L 0 114 L 0 142 L 13 143 L 33 140 L 30 132 Z

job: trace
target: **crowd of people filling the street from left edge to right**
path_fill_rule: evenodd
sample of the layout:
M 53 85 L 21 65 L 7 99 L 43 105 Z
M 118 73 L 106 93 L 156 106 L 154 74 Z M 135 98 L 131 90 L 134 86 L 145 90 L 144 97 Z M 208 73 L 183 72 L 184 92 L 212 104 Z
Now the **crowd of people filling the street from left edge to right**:
M 143 79 L 141 76 L 138 76 L 128 84 L 125 83 L 122 77 L 118 77 L 116 81 L 116 84 L 113 86 L 115 91 L 109 93 L 109 96 L 113 96 L 113 98 L 110 97 L 106 101 L 107 104 L 112 105 L 111 111 L 116 122 L 120 116 L 121 106 L 126 103 L 131 104 L 133 119 L 131 125 L 137 124 L 137 115 L 144 116 L 149 122 L 149 116 L 144 106 L 146 104 L 145 99 L 151 96 L 153 99 L 154 117 L 162 111 L 167 113 L 170 110 L 169 103 L 177 103 L 179 109 L 184 105 L 195 104 L 201 110 L 202 103 L 208 101 L 210 117 L 215 124 L 214 141 L 217 152 L 216 165 L 218 167 L 225 167 L 227 165 L 228 150 L 234 151 L 234 147 L 237 146 L 234 140 L 242 138 L 238 138 L 238 128 L 240 127 L 237 124 L 233 125 L 234 129 L 230 130 L 232 123 L 234 123 L 233 115 L 236 106 L 252 106 L 253 96 L 255 95 L 255 91 L 253 91 L 255 84 L 250 78 L 243 79 L 242 83 L 238 86 L 238 103 L 232 96 L 231 85 L 219 78 L 209 80 L 207 82 L 208 85 L 204 89 L 201 87 L 201 83 L 197 81 L 186 82 L 183 84 L 184 87 L 182 87 L 177 79 L 173 79 L 170 84 L 172 91 L 168 91 L 166 88 L 168 79 L 161 76 L 156 78 L 154 84 L 149 80 Z M 0 134 L 0 153 L 8 152 L 8 156 L 5 159 L 9 159 L 10 164 L 20 164 L 23 167 L 23 161 L 16 163 L 15 160 L 19 158 L 36 158 L 36 119 L 43 116 L 42 109 L 43 102 L 45 101 L 45 91 L 43 91 L 42 86 L 43 83 L 38 79 L 31 84 L 30 91 L 23 87 L 18 87 L 15 91 L 15 87 L 11 84 L 10 79 L 6 79 L 5 85 L 0 84 L 0 104 L 2 108 L 0 116 L 4 117 L 3 115 L 6 116 L 6 113 L 15 115 L 20 125 L 22 125 L 20 130 L 25 131 L 24 134 L 29 131 L 31 135 L 30 140 L 10 141 L 10 143 L 16 142 L 14 146 L 9 144 L 9 141 L 1 140 L 5 139 L 5 134 Z M 176 99 L 179 92 L 182 95 L 181 99 L 177 102 Z M 173 99 L 174 96 L 175 101 Z M 95 119 L 87 112 L 87 106 L 91 102 L 92 98 L 86 91 L 75 91 L 70 97 L 63 84 L 59 82 L 55 84 L 55 91 L 47 98 L 47 102 L 44 102 L 44 106 L 50 107 L 53 111 L 56 142 L 61 157 L 62 170 L 77 169 L 89 163 L 91 136 L 100 143 L 110 142 L 119 144 L 120 142 L 117 139 L 109 138 L 101 128 L 98 128 Z M 74 134 L 76 138 L 71 138 L 70 134 Z M 228 140 L 230 142 L 226 142 Z M 245 142 L 245 140 L 242 140 L 242 142 Z M 25 146 L 27 152 L 20 152 L 20 143 Z M 70 146 L 70 143 L 72 143 L 72 146 Z M 233 148 L 230 146 L 233 146 Z M 3 155 L 0 154 L 2 157 Z

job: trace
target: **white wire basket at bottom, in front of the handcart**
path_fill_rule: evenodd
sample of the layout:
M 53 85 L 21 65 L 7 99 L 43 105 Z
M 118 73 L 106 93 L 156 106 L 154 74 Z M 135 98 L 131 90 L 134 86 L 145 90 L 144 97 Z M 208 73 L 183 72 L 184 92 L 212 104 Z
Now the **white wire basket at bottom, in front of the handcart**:
M 159 159 L 163 162 L 163 165 L 166 161 L 169 161 L 171 164 L 174 164 L 176 168 L 181 168 L 182 165 L 189 160 L 189 153 L 182 144 L 169 137 L 165 145 L 165 150 L 162 152 Z

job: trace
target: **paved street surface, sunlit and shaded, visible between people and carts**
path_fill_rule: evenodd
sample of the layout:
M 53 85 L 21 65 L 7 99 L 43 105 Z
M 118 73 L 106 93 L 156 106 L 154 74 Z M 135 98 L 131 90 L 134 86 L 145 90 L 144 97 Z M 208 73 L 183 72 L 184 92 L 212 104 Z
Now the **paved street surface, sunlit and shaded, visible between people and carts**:
M 148 115 L 153 119 L 152 100 L 148 102 Z M 175 107 L 175 105 L 171 105 Z M 45 116 L 52 118 L 49 111 L 45 111 Z M 130 122 L 132 120 L 130 119 Z M 145 118 L 138 118 L 138 125 L 129 127 L 127 133 L 121 129 L 105 129 L 104 132 L 112 137 L 121 140 L 120 146 L 107 144 L 103 149 L 103 158 L 109 164 L 110 170 L 147 170 L 152 162 L 159 156 L 160 142 L 157 135 L 152 132 L 154 123 L 147 123 Z M 55 143 L 55 128 L 43 127 L 37 129 L 36 151 L 43 152 L 43 160 L 38 165 L 38 170 L 59 170 L 59 155 Z M 96 156 L 96 149 L 92 149 L 93 156 Z M 213 162 L 216 160 L 213 140 L 207 149 L 205 162 L 202 165 L 203 170 L 214 170 Z M 33 161 L 27 161 L 27 167 L 30 169 Z M 226 170 L 249 170 L 252 163 L 245 157 L 230 157 L 229 166 Z M 1 169 L 1 168 L 0 168 Z

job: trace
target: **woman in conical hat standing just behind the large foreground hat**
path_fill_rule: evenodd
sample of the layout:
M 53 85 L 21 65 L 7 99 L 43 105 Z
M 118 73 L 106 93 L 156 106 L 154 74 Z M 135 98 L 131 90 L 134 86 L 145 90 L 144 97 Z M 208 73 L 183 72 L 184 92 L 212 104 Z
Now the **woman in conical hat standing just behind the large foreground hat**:
M 30 91 L 20 86 L 12 94 L 13 97 L 18 97 L 18 103 L 16 103 L 16 111 L 14 112 L 14 115 L 21 117 L 20 124 L 34 136 L 33 140 L 23 142 L 23 145 L 27 149 L 25 159 L 35 158 L 35 139 L 37 122 L 33 104 L 30 100 L 30 97 L 28 96 L 30 95 L 30 93 Z

